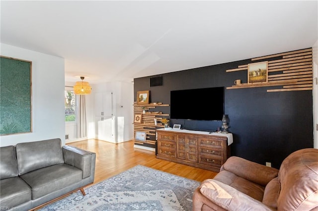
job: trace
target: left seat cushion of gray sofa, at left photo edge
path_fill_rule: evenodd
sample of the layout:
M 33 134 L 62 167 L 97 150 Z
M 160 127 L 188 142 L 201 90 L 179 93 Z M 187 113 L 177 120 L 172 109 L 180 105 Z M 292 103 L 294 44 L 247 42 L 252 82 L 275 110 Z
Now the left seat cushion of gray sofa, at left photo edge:
M 1 207 L 15 207 L 31 201 L 31 188 L 19 177 L 0 180 Z

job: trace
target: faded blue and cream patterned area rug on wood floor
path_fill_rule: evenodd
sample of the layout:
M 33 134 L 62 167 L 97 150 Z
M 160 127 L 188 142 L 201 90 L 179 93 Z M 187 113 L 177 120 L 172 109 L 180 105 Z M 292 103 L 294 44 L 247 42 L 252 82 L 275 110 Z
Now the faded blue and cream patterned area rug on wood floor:
M 40 211 L 192 211 L 199 182 L 143 165 L 78 191 Z

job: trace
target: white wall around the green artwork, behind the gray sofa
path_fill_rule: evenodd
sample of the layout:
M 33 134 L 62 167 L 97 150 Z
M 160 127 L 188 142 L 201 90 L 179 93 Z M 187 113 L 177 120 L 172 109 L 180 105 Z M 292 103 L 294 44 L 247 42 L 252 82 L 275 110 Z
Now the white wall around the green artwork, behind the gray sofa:
M 0 136 L 0 146 L 53 138 L 65 145 L 64 58 L 6 44 L 0 54 L 32 61 L 32 133 Z

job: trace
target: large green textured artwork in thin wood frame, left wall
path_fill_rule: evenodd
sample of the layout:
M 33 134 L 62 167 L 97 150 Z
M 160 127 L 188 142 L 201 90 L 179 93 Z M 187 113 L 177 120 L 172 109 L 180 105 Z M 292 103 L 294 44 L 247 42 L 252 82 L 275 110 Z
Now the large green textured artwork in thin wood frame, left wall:
M 0 136 L 32 132 L 32 61 L 0 56 Z

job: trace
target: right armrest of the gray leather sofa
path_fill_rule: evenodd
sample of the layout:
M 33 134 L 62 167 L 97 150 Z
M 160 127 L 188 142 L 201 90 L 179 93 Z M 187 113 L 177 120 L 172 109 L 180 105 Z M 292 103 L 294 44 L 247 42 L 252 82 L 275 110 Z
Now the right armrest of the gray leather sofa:
M 83 171 L 82 178 L 94 173 L 96 154 L 72 146 L 63 146 L 64 162 Z M 93 169 L 93 170 L 91 170 Z

